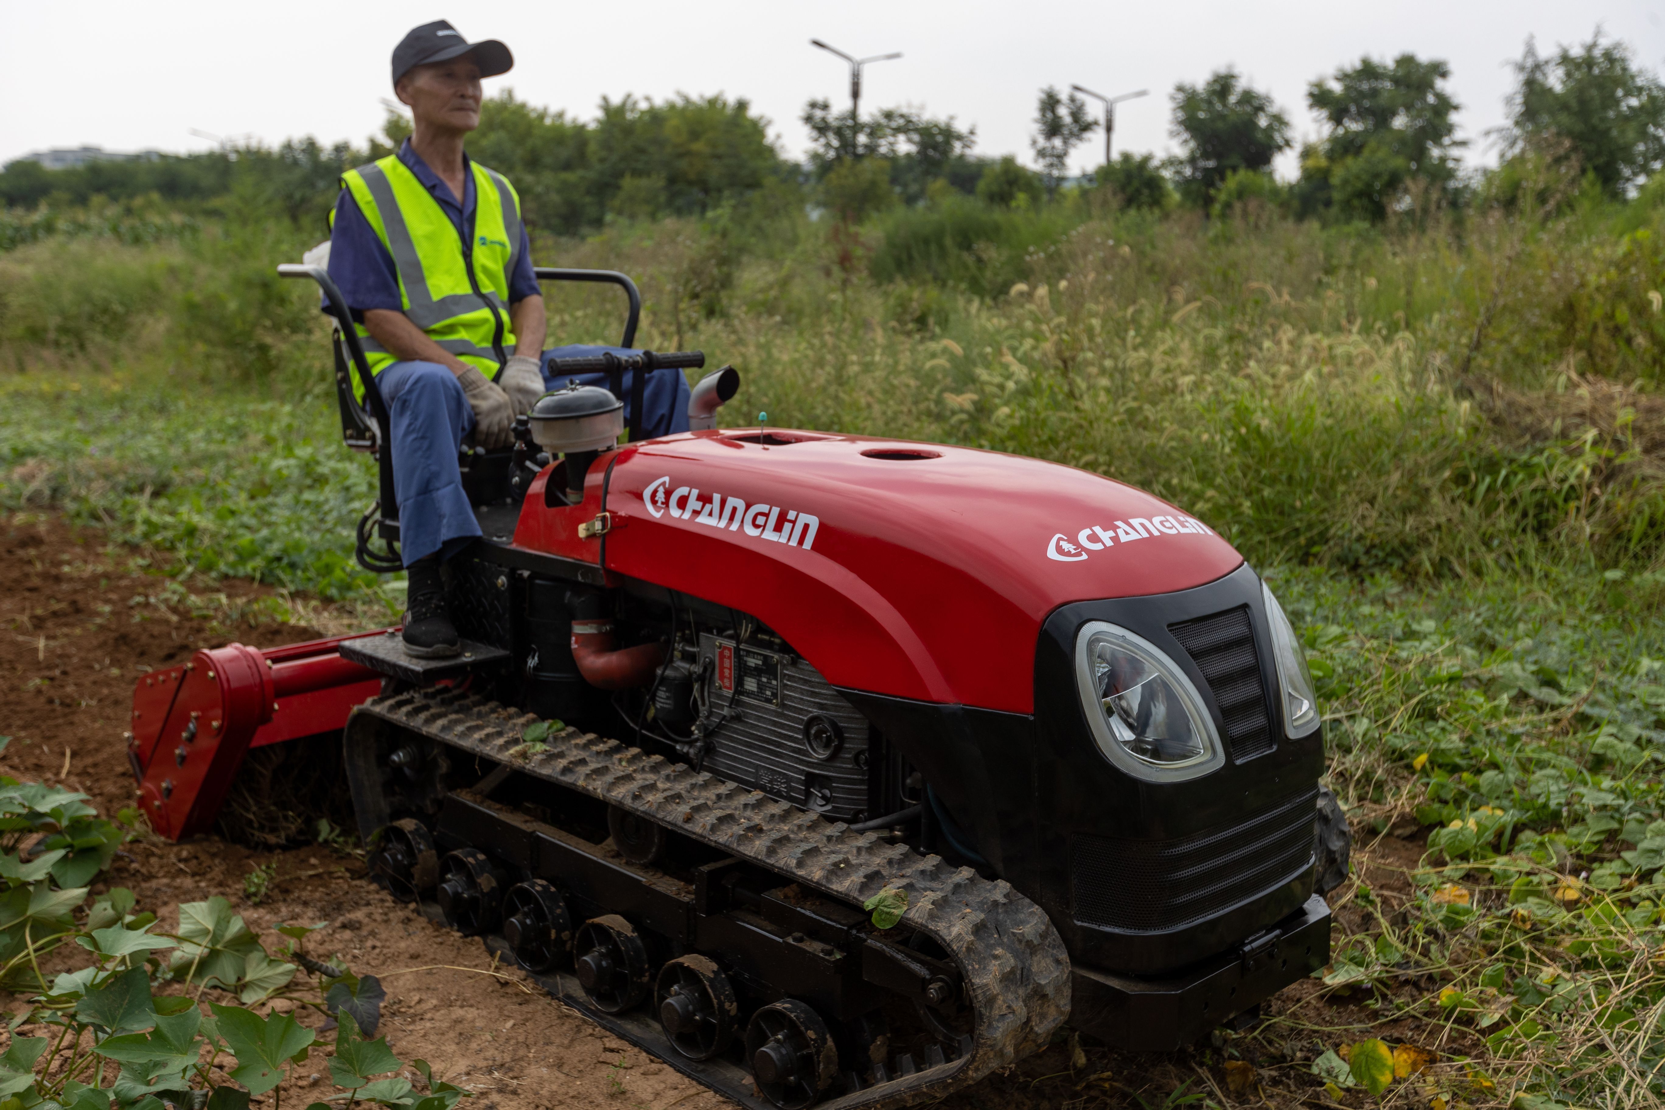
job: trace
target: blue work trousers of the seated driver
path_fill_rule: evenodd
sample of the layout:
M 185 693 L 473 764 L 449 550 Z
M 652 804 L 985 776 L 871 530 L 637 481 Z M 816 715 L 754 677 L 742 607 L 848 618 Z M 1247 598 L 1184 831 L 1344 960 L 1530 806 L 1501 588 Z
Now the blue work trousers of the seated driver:
M 564 389 L 573 374 L 556 381 L 549 358 L 576 358 L 618 346 L 558 346 L 543 353 L 544 386 Z M 581 384 L 608 388 L 606 374 L 578 374 Z M 450 559 L 480 536 L 480 521 L 463 493 L 456 454 L 475 429 L 475 411 L 456 374 L 438 363 L 393 363 L 376 374 L 388 404 L 393 444 L 393 494 L 400 503 L 400 553 L 405 566 L 438 554 Z M 629 421 L 631 374 L 624 374 L 624 419 Z M 643 383 L 643 438 L 688 431 L 688 379 L 673 369 L 648 374 Z

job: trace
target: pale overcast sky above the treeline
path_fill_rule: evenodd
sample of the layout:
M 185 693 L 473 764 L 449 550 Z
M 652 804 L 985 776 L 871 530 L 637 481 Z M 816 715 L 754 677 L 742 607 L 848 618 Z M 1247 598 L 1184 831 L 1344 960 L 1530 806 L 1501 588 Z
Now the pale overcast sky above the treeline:
M 390 97 L 388 57 L 413 25 L 450 18 L 470 40 L 501 38 L 513 88 L 536 105 L 591 118 L 603 97 L 686 93 L 746 97 L 771 120 L 784 153 L 799 156 L 798 121 L 811 97 L 847 103 L 844 63 L 811 37 L 857 57 L 901 50 L 869 67 L 862 107 L 912 105 L 977 128 L 977 151 L 1031 161 L 1036 92 L 1074 83 L 1151 97 L 1122 105 L 1117 150 L 1170 151 L 1169 93 L 1232 65 L 1269 90 L 1299 138 L 1319 128 L 1307 82 L 1364 53 L 1412 52 L 1450 63 L 1469 158 L 1495 160 L 1487 131 L 1528 35 L 1540 48 L 1582 42 L 1597 25 L 1665 70 L 1660 0 L 1192 0 L 1116 3 L 1051 0 L 629 0 L 485 7 L 226 3 L 225 0 L 78 0 L 8 3 L 10 60 L 0 67 L 0 161 L 50 146 L 206 150 L 208 138 L 276 143 L 315 135 L 330 143 L 380 130 Z M 1089 141 L 1091 161 L 1102 136 Z M 1079 168 L 1089 165 L 1077 153 Z M 1280 170 L 1294 171 L 1294 155 Z

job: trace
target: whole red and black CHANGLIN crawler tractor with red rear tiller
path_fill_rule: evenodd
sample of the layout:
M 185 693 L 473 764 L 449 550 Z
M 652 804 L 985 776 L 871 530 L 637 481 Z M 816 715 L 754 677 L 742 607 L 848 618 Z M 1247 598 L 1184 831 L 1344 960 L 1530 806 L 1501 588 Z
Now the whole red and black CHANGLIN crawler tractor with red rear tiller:
M 628 278 L 539 276 L 623 286 L 631 346 Z M 390 569 L 386 418 L 335 346 L 383 476 L 360 559 Z M 694 431 L 614 446 L 626 373 L 701 364 L 571 359 L 613 391 L 466 454 L 461 656 L 366 632 L 148 676 L 153 825 L 210 830 L 260 749 L 306 744 L 388 890 L 746 1107 L 939 1097 L 1066 1020 L 1172 1048 L 1329 960 L 1347 827 L 1299 641 L 1230 544 L 1034 459 L 719 431 L 729 368 Z

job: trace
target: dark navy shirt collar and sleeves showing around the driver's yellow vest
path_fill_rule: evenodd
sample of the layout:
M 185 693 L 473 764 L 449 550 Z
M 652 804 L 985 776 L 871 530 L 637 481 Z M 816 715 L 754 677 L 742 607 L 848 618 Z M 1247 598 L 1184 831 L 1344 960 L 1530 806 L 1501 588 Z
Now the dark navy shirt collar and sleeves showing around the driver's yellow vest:
M 440 210 L 451 218 L 456 228 L 458 250 L 465 240 L 475 235 L 475 170 L 468 155 L 463 155 L 463 200 L 458 203 L 451 186 L 440 180 L 440 175 L 428 168 L 411 141 L 400 143 L 400 161 L 410 166 L 416 180 L 423 183 Z M 393 265 L 393 255 L 376 238 L 375 228 L 365 220 L 353 200 L 353 190 L 341 190 L 335 200 L 335 226 L 330 231 L 330 276 L 341 288 L 346 306 L 353 311 L 353 320 L 365 321 L 365 311 L 371 308 L 388 308 L 405 311 L 405 300 L 400 296 L 400 271 Z M 509 275 L 509 305 L 541 293 L 538 278 L 531 271 L 531 241 L 526 238 L 526 223 L 521 221 L 521 245 L 514 255 L 514 271 Z

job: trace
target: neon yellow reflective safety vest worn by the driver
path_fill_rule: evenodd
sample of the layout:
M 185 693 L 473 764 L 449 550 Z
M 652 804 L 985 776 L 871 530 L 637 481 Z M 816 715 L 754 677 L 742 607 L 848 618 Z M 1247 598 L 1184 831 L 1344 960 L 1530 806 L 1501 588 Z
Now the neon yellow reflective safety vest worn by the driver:
M 470 170 L 475 211 L 466 245 L 396 155 L 348 170 L 341 183 L 393 256 L 405 315 L 441 349 L 495 378 L 514 349 L 508 286 L 519 255 L 519 198 L 503 175 L 475 161 Z M 356 331 L 373 374 L 396 361 L 361 325 Z M 353 386 L 363 398 L 356 374 Z

